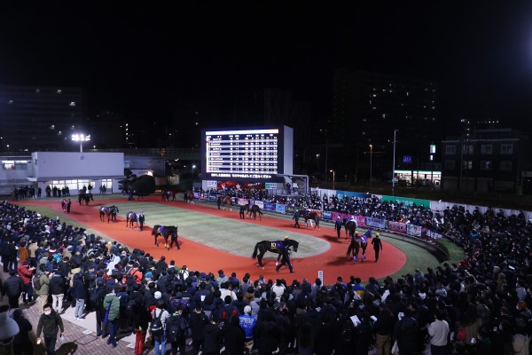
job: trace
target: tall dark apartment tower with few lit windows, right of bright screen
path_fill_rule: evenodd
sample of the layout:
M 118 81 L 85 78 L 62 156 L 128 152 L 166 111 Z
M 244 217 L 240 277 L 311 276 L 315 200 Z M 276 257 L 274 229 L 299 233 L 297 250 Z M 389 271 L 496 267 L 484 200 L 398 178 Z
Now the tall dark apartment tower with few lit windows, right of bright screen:
M 387 143 L 393 131 L 409 140 L 434 140 L 437 127 L 434 83 L 344 68 L 334 72 L 332 134 L 341 142 Z

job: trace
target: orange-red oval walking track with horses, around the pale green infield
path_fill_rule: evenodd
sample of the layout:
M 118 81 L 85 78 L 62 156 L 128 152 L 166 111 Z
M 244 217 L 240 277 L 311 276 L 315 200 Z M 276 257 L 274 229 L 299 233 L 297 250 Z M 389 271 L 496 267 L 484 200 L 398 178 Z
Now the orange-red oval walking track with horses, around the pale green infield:
M 125 200 L 125 199 L 124 199 Z M 362 280 L 368 280 L 370 277 L 384 278 L 393 274 L 399 270 L 406 261 L 406 256 L 399 248 L 395 248 L 393 245 L 382 241 L 384 246 L 384 252 L 381 252 L 379 263 L 375 263 L 374 251 L 371 245 L 368 246 L 366 251 L 367 258 L 364 263 L 353 264 L 352 259 L 346 256 L 348 249 L 348 241 L 344 239 L 344 232 L 342 231 L 342 237 L 340 240 L 336 238 L 336 233 L 331 226 L 322 225 L 321 231 L 313 230 L 311 228 L 301 227 L 299 230 L 293 228 L 293 221 L 286 218 L 278 218 L 271 216 L 262 216 L 262 221 L 258 219 L 246 219 L 241 223 L 250 223 L 255 225 L 264 225 L 278 230 L 285 230 L 290 232 L 304 233 L 315 238 L 320 238 L 327 241 L 331 248 L 322 254 L 317 256 L 310 256 L 305 258 L 298 258 L 297 253 L 293 253 L 291 256 L 293 270 L 295 273 L 291 275 L 288 272 L 287 267 L 283 267 L 278 273 L 275 271 L 275 261 L 271 253 L 267 253 L 263 259 L 264 269 L 256 266 L 256 261 L 251 258 L 253 250 L 249 250 L 250 257 L 234 256 L 230 253 L 226 253 L 215 248 L 207 247 L 203 244 L 186 240 L 179 237 L 179 243 L 181 250 L 177 250 L 176 247 L 167 251 L 163 248 L 164 241 L 160 237 L 159 248 L 153 244 L 153 236 L 151 235 L 152 226 L 149 225 L 149 219 L 146 221 L 148 225 L 145 225 L 144 231 L 137 232 L 137 230 L 131 231 L 126 227 L 125 217 L 119 216 L 116 223 L 103 223 L 98 219 L 98 210 L 94 209 L 94 206 L 108 205 L 111 203 L 123 202 L 122 199 L 114 200 L 98 200 L 92 202 L 92 206 L 79 206 L 77 201 L 73 200 L 72 212 L 68 217 L 74 219 L 82 225 L 86 225 L 102 234 L 108 235 L 115 241 L 120 242 L 122 245 L 127 245 L 129 248 L 140 248 L 145 250 L 146 253 L 155 258 L 160 256 L 166 256 L 167 261 L 176 260 L 176 265 L 182 266 L 186 264 L 189 270 L 199 270 L 200 272 L 213 272 L 217 276 L 217 271 L 223 269 L 225 274 L 231 275 L 231 272 L 236 272 L 237 277 L 241 280 L 246 272 L 249 272 L 252 276 L 252 280 L 258 278 L 259 275 L 264 275 L 266 280 L 285 278 L 287 282 L 291 280 L 301 280 L 307 278 L 309 281 L 314 281 L 317 278 L 318 271 L 324 272 L 324 283 L 330 285 L 336 281 L 338 276 L 341 276 L 344 281 L 349 280 L 349 276 L 354 275 Z M 202 203 L 185 204 L 183 201 L 160 201 L 160 196 L 152 195 L 145 198 L 146 202 L 156 202 L 165 204 L 168 209 L 188 209 L 204 213 L 216 217 L 234 218 L 239 219 L 238 210 L 219 210 L 213 209 L 212 205 L 204 205 Z M 28 209 L 31 209 L 31 205 L 43 205 L 48 206 L 58 212 L 60 216 L 63 212 L 58 201 L 49 200 L 33 200 L 33 201 L 19 201 L 21 205 L 27 205 Z M 139 205 L 142 203 L 139 202 Z M 90 213 L 86 213 L 89 212 Z M 149 217 L 148 217 L 149 218 Z M 300 222 L 301 224 L 301 222 Z M 304 224 L 302 224 L 304 226 Z

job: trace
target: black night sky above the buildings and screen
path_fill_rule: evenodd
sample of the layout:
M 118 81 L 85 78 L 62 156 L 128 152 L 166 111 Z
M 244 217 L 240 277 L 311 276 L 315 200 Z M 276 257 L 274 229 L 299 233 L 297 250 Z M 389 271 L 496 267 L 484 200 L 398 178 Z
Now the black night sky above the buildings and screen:
M 434 81 L 442 120 L 530 125 L 530 1 L 19 3 L 0 11 L 0 83 L 82 86 L 90 114 L 161 121 L 176 99 L 279 87 L 321 119 L 344 66 Z

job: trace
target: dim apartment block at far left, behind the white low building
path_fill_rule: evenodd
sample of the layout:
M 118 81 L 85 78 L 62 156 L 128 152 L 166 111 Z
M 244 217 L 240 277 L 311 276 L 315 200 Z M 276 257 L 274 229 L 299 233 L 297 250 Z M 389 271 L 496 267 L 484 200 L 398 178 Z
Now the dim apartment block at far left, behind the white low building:
M 71 135 L 83 129 L 84 102 L 81 88 L 3 85 L 0 150 L 75 149 Z

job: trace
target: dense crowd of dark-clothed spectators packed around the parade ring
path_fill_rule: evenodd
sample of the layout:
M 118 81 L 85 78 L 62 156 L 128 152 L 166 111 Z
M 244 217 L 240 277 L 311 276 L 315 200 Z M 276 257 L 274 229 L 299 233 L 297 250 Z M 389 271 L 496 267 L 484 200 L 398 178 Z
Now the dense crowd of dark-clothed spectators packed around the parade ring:
M 286 201 L 297 205 L 313 201 Z M 319 199 L 317 199 L 319 201 Z M 96 312 L 97 335 L 116 346 L 134 332 L 155 354 L 528 354 L 532 335 L 532 225 L 522 215 L 460 207 L 439 214 L 370 200 L 327 201 L 333 209 L 409 223 L 437 223 L 456 233 L 466 257 L 396 280 L 356 275 L 333 285 L 317 280 L 251 280 L 189 271 L 165 257 L 129 250 L 59 219 L 6 201 L 0 204 L 2 294 L 12 308 L 38 302 L 40 312 L 75 307 Z M 434 219 L 437 222 L 434 222 Z M 63 300 L 66 300 L 63 303 Z M 46 308 L 49 310 L 49 308 Z

